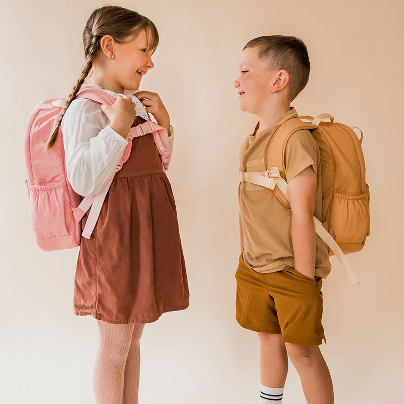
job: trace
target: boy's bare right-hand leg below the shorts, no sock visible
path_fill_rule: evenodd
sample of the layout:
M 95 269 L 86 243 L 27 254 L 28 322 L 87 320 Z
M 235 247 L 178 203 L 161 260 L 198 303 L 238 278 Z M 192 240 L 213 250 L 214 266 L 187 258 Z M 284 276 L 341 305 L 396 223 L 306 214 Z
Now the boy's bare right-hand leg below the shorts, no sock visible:
M 286 350 L 299 374 L 308 404 L 333 404 L 331 375 L 321 355 L 320 347 L 286 342 Z

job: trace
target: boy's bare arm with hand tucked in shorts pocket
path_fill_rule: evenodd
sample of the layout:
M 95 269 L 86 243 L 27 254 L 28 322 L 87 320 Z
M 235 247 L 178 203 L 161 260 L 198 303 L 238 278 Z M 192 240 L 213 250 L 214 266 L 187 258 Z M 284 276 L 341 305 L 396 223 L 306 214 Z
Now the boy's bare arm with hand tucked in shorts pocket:
M 288 182 L 294 269 L 313 280 L 316 269 L 316 232 L 313 222 L 316 190 L 317 174 L 312 166 L 305 168 Z

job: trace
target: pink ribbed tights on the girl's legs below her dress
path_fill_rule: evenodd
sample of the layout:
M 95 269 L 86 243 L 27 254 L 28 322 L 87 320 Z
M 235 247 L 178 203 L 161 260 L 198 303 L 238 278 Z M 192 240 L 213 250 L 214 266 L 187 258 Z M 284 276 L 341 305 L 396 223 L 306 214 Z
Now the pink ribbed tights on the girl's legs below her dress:
M 94 367 L 97 404 L 137 404 L 140 337 L 144 324 L 110 324 L 97 320 L 99 351 Z

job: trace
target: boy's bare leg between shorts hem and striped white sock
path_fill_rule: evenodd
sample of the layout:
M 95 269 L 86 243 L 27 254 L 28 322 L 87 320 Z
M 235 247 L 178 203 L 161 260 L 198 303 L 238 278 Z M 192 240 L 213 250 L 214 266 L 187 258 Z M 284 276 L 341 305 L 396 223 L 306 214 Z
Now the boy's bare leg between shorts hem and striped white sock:
M 287 375 L 287 353 L 282 334 L 259 332 L 261 384 L 284 387 Z

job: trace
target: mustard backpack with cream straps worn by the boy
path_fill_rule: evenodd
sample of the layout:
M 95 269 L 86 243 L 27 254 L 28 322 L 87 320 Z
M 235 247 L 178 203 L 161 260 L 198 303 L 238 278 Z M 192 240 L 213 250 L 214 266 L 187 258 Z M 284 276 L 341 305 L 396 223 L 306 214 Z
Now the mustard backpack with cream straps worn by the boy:
M 331 122 L 323 122 L 325 119 Z M 336 123 L 328 114 L 314 119 L 309 116 L 291 118 L 272 137 L 266 159 L 267 170 L 240 171 L 240 180 L 272 189 L 279 201 L 290 208 L 285 180 L 285 147 L 290 136 L 301 129 L 310 130 L 321 154 L 324 222 L 313 217 L 316 233 L 327 244 L 329 255 L 335 254 L 339 259 L 352 286 L 359 286 L 345 254 L 361 250 L 370 232 L 370 195 L 365 181 L 361 129 Z M 361 138 L 354 129 L 361 132 Z

